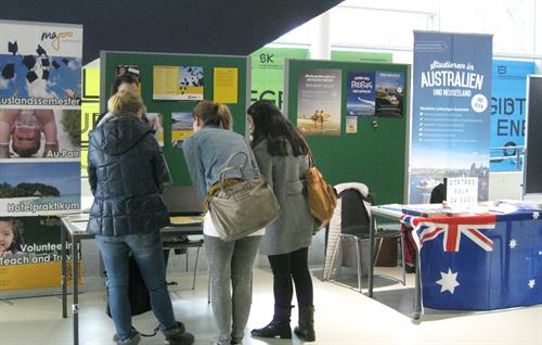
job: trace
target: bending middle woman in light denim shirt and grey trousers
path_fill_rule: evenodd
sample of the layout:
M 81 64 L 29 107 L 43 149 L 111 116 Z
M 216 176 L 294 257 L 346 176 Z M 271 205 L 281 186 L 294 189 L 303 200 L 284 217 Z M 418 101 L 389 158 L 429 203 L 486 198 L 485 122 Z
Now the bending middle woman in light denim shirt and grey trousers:
M 245 152 L 249 157 L 251 153 L 244 137 L 231 130 L 231 113 L 225 105 L 202 101 L 195 106 L 193 118 L 194 133 L 182 148 L 192 182 L 206 204 L 207 197 L 220 190 L 219 173 L 227 161 L 238 152 Z M 243 162 L 238 156 L 232 165 Z M 245 166 L 247 178 L 256 174 L 253 164 L 248 162 Z M 234 184 L 238 178 L 240 171 L 229 174 L 225 183 Z M 263 232 L 264 229 L 237 241 L 224 242 L 219 238 L 210 214 L 205 214 L 204 241 L 219 345 L 241 344 L 243 340 L 253 299 L 253 264 Z

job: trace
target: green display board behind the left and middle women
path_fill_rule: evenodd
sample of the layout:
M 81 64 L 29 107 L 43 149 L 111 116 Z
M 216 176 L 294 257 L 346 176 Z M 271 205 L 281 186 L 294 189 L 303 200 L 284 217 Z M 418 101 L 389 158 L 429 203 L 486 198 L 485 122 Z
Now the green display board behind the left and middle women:
M 140 71 L 141 95 L 147 113 L 159 113 L 164 127 L 164 153 L 173 179 L 178 186 L 192 184 L 181 148 L 171 144 L 171 113 L 192 112 L 196 101 L 153 100 L 153 67 L 154 66 L 197 66 L 203 68 L 203 98 L 215 100 L 215 68 L 236 68 L 237 97 L 235 103 L 227 103 L 233 115 L 233 130 L 245 136 L 246 108 L 250 94 L 247 81 L 250 60 L 247 56 L 225 55 L 192 55 L 167 53 L 101 53 L 101 107 L 105 111 L 111 94 L 111 85 L 117 74 L 117 66 L 132 66 Z

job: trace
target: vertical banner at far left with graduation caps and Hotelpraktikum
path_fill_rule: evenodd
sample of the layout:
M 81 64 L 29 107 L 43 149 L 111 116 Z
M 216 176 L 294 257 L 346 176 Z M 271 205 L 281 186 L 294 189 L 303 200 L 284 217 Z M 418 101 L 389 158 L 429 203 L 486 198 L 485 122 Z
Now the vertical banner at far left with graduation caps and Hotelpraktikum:
M 81 55 L 80 25 L 0 21 L 0 292 L 60 286 L 57 216 L 80 209 Z

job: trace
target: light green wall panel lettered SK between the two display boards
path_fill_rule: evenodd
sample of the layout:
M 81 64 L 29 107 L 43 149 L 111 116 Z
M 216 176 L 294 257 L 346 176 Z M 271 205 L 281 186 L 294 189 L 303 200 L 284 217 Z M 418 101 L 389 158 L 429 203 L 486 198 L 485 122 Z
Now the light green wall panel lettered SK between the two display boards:
M 253 89 L 250 101 L 283 103 L 284 59 L 308 59 L 309 50 L 301 48 L 261 48 L 250 54 Z

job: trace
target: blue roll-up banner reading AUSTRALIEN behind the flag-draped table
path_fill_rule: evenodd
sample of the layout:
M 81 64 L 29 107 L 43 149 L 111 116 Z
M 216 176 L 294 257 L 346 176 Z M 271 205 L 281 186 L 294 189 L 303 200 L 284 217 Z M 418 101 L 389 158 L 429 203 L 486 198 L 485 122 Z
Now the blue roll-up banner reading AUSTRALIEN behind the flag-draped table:
M 488 199 L 492 36 L 414 33 L 409 202 L 444 177 L 478 177 Z

